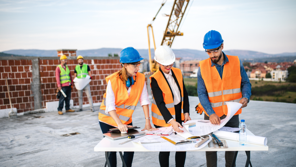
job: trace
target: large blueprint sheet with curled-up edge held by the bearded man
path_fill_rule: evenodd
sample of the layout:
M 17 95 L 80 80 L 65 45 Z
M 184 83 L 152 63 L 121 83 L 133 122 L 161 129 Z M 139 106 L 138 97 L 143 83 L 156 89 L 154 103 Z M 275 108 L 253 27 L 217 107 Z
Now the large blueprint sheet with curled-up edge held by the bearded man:
M 242 104 L 236 103 L 236 102 L 226 102 L 228 112 L 226 118 L 221 120 L 220 125 L 213 125 L 210 122 L 204 121 L 204 120 L 189 120 L 183 125 L 189 125 L 189 132 L 195 136 L 203 136 L 207 135 L 209 133 L 212 133 L 214 131 L 217 131 L 218 129 L 222 128 L 233 116 L 234 114 L 242 107 Z M 195 126 L 194 126 L 195 123 Z

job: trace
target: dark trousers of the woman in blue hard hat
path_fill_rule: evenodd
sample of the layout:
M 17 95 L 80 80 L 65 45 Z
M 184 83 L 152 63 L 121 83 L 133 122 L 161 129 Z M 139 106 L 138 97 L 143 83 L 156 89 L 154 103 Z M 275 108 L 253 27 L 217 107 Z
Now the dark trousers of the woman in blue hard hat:
M 102 123 L 102 122 L 99 122 L 99 124 L 100 124 L 101 130 L 103 133 L 107 133 L 109 131 L 109 129 L 116 128 L 114 126 L 111 126 L 111 125 L 108 125 L 108 124 Z M 133 126 L 133 123 L 130 123 L 128 125 Z M 133 163 L 133 154 L 134 154 L 134 152 L 127 152 L 127 151 L 123 152 L 123 159 L 126 163 L 126 167 L 131 167 L 131 164 Z M 116 152 L 113 152 L 113 151 L 110 152 L 109 161 L 110 161 L 111 167 L 117 166 Z

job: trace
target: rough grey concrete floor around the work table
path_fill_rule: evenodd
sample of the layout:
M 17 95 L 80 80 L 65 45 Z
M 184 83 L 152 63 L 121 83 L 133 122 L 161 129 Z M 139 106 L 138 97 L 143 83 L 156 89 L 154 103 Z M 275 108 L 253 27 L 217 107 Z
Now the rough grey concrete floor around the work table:
M 198 97 L 189 100 L 191 118 L 203 119 L 194 110 Z M 246 120 L 252 133 L 268 138 L 269 151 L 251 152 L 252 166 L 295 166 L 296 104 L 250 101 L 239 117 Z M 103 138 L 97 123 L 98 111 L 91 112 L 88 108 L 64 115 L 50 112 L 1 118 L 0 166 L 104 166 L 104 152 L 94 152 L 94 146 Z M 133 125 L 144 128 L 144 123 L 144 113 L 138 104 Z M 81 134 L 61 136 L 73 132 Z M 118 166 L 122 166 L 119 154 L 117 159 Z M 244 166 L 246 159 L 245 153 L 239 152 L 237 166 Z M 158 152 L 136 152 L 133 166 L 159 166 Z M 175 166 L 175 152 L 171 152 L 170 166 Z M 206 166 L 205 152 L 187 152 L 185 166 Z M 224 152 L 218 152 L 218 166 L 225 166 Z

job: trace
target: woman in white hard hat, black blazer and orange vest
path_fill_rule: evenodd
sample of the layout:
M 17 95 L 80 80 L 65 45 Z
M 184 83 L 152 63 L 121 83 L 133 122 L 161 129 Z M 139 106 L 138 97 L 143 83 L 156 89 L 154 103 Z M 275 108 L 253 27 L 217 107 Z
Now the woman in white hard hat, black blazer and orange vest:
M 182 122 L 189 117 L 189 99 L 181 70 L 172 67 L 176 57 L 168 46 L 160 46 L 155 50 L 155 61 L 160 68 L 150 76 L 153 93 L 152 122 L 155 128 L 173 126 L 174 131 L 183 132 Z M 181 129 L 180 129 L 180 128 Z M 159 152 L 161 167 L 169 166 L 170 152 Z M 176 167 L 184 167 L 186 152 L 176 152 Z

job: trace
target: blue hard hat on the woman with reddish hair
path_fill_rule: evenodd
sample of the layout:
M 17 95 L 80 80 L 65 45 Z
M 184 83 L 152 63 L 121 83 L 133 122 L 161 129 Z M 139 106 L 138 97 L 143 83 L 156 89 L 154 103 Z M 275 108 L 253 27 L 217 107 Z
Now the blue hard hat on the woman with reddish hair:
M 134 63 L 143 60 L 137 50 L 127 47 L 120 52 L 120 63 Z

